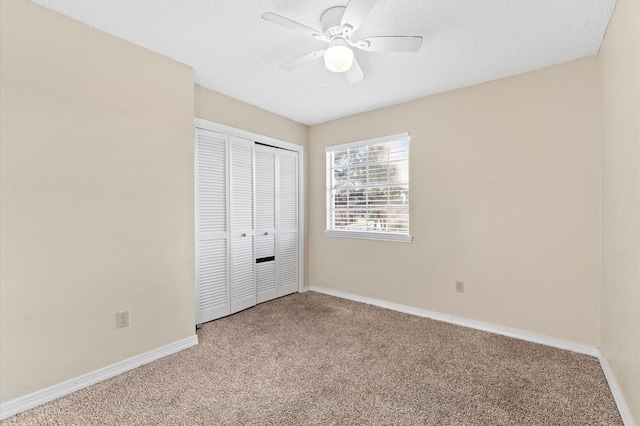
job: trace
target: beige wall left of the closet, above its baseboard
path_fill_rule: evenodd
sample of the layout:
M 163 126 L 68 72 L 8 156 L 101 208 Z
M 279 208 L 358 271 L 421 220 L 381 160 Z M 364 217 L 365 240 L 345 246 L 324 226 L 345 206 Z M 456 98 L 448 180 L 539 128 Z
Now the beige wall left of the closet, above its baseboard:
M 194 335 L 194 112 L 190 68 L 1 5 L 7 402 Z

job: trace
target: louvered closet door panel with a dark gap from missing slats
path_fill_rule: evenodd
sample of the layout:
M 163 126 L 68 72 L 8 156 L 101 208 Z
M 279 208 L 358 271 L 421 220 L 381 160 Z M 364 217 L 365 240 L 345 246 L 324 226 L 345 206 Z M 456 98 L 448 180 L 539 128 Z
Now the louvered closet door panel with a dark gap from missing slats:
M 255 146 L 256 170 L 256 297 L 278 296 L 276 286 L 276 149 Z

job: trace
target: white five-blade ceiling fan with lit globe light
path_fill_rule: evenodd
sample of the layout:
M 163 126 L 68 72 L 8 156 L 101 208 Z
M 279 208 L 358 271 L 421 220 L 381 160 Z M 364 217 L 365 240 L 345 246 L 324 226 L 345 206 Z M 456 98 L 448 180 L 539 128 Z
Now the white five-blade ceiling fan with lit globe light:
M 421 36 L 377 36 L 358 39 L 356 31 L 362 25 L 377 0 L 349 0 L 347 6 L 335 6 L 324 11 L 321 17 L 322 31 L 314 30 L 284 16 L 267 12 L 262 19 L 284 28 L 309 35 L 329 43 L 327 49 L 316 50 L 280 66 L 292 70 L 324 57 L 329 71 L 344 72 L 347 79 L 356 83 L 364 79 L 353 48 L 367 52 L 417 52 L 422 46 Z

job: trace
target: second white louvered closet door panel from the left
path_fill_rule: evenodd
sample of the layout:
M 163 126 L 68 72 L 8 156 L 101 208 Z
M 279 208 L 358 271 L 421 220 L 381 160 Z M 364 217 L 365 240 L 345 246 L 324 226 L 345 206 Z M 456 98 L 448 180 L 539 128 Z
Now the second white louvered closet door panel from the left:
M 256 304 L 253 233 L 253 141 L 229 137 L 231 313 Z

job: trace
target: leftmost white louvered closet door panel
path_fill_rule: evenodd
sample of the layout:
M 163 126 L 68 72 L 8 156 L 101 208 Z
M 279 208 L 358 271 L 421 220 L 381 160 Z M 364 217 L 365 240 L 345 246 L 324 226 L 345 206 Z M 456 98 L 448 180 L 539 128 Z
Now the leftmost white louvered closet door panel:
M 196 324 L 231 313 L 227 146 L 227 135 L 196 129 Z

